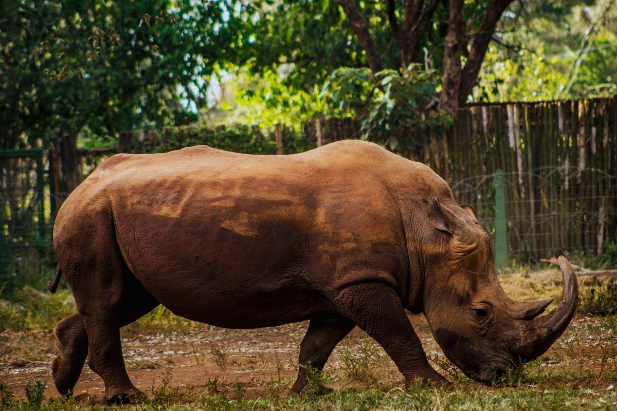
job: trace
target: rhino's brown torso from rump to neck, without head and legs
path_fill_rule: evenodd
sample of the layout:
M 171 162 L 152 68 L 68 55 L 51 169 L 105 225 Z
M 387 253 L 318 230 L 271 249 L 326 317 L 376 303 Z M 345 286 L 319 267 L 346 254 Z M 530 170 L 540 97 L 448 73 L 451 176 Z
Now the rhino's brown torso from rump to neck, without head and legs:
M 263 327 L 331 309 L 348 283 L 384 282 L 406 299 L 407 246 L 416 244 L 405 226 L 426 220 L 422 200 L 434 194 L 453 201 L 428 167 L 360 141 L 276 157 L 205 146 L 121 154 L 68 198 L 54 239 L 60 267 L 86 232 L 86 248 L 109 247 L 96 244 L 96 219 L 115 230 L 131 273 L 176 314 Z

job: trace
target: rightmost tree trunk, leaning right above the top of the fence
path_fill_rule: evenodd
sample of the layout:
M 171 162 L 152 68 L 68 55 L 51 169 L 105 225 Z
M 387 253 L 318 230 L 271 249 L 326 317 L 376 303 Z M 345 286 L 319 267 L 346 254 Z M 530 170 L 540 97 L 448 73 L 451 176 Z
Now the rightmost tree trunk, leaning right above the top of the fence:
M 484 56 L 491 43 L 491 38 L 495 33 L 495 27 L 499 22 L 503 12 L 514 0 L 491 0 L 486 7 L 484 17 L 480 23 L 480 30 L 471 44 L 469 57 L 463 68 L 461 76 L 461 88 L 459 101 L 464 103 L 467 96 L 471 94 L 473 86 L 478 82 L 478 75 L 482 68 Z

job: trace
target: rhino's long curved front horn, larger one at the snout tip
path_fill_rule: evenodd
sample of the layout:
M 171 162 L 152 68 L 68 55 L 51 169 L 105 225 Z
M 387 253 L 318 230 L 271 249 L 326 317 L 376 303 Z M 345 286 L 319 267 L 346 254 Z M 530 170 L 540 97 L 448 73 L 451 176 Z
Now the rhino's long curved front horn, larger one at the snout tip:
M 578 303 L 576 275 L 564 256 L 560 256 L 558 262 L 563 278 L 561 301 L 549 314 L 523 322 L 521 325 L 521 342 L 515 352 L 524 360 L 532 360 L 544 354 L 568 327 L 576 311 Z

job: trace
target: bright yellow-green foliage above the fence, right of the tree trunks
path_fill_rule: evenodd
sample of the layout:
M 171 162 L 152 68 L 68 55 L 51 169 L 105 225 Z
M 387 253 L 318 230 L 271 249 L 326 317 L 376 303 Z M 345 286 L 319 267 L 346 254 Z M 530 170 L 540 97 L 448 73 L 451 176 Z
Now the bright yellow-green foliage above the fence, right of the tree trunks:
M 489 46 L 474 99 L 608 97 L 617 91 L 617 9 L 610 1 L 514 4 Z M 569 84 L 571 83 L 571 84 Z M 569 84 L 569 85 L 568 85 Z

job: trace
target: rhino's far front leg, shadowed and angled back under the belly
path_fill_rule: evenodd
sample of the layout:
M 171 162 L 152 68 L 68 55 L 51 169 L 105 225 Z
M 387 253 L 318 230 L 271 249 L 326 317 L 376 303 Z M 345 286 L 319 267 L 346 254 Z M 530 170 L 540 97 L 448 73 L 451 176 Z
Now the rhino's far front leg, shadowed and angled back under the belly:
M 355 327 L 350 320 L 341 316 L 313 317 L 302 343 L 300 343 L 299 370 L 296 383 L 290 392 L 299 394 L 309 384 L 310 370 L 321 372 L 330 354 Z

